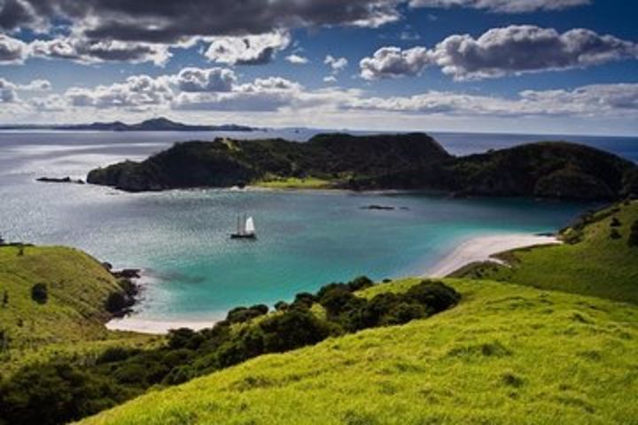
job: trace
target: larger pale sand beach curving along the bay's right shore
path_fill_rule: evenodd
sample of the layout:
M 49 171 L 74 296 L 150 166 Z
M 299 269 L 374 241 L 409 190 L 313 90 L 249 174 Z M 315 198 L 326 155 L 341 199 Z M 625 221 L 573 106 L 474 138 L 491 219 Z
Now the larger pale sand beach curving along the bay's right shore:
M 463 266 L 478 261 L 499 262 L 492 256 L 503 251 L 516 250 L 534 245 L 561 243 L 555 236 L 510 234 L 480 236 L 461 243 L 447 257 L 430 268 L 424 277 L 445 277 Z

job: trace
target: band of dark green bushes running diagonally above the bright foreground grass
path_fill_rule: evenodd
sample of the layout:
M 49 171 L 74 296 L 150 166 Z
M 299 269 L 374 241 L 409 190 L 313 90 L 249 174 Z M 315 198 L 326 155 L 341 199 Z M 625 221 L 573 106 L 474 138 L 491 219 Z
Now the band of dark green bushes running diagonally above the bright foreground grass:
M 461 298 L 434 281 L 420 282 L 403 294 L 384 292 L 371 299 L 354 294 L 373 284 L 367 277 L 331 283 L 315 294 L 298 294 L 292 303 L 277 303 L 274 312 L 266 305 L 237 307 L 213 328 L 172 330 L 167 343 L 154 350 L 111 348 L 89 365 L 52 362 L 25 367 L 0 384 L 0 423 L 78 420 L 152 386 L 184 383 L 261 354 L 317 344 L 329 336 L 423 319 Z

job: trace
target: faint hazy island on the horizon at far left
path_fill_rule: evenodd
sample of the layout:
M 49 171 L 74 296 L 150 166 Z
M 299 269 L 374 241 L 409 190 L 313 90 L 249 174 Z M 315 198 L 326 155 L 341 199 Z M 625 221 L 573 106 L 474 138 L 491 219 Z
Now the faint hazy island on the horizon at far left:
M 0 130 L 65 130 L 65 131 L 255 131 L 258 128 L 238 126 L 237 124 L 222 124 L 219 126 L 201 126 L 183 124 L 167 118 L 154 118 L 136 124 L 126 124 L 121 121 L 93 122 L 91 124 L 73 125 L 13 125 L 0 126 Z

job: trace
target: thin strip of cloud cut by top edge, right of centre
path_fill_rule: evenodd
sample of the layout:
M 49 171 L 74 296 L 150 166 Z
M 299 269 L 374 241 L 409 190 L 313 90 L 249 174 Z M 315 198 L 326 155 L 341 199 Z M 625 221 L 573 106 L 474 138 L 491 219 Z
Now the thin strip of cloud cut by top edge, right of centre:
M 409 2 L 412 7 L 467 7 L 503 13 L 558 11 L 590 3 L 591 0 L 411 0 Z

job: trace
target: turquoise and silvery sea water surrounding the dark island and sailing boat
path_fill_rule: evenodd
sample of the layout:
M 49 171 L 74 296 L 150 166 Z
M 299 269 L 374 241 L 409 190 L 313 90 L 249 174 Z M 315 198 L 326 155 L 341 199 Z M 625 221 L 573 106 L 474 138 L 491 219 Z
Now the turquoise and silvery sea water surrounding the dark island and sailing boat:
M 232 133 L 237 138 L 307 130 Z M 38 183 L 84 178 L 96 166 L 142 159 L 176 141 L 218 133 L 0 132 L 0 235 L 71 245 L 115 267 L 144 269 L 138 317 L 217 319 L 236 305 L 273 304 L 360 274 L 423 274 L 476 236 L 555 231 L 591 204 L 521 199 L 448 199 L 419 194 L 230 189 L 127 194 L 92 185 Z M 434 134 L 455 154 L 537 140 L 572 140 L 638 159 L 619 137 Z M 364 209 L 393 205 L 393 211 Z M 256 242 L 230 240 L 237 214 L 254 216 Z

